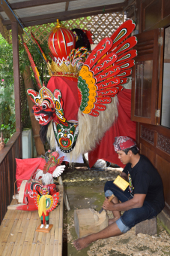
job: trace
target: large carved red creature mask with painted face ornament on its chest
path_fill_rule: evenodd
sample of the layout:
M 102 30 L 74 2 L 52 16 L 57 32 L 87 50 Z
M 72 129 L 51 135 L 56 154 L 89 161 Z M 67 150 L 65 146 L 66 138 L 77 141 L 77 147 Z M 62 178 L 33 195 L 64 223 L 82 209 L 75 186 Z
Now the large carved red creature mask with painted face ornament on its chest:
M 76 145 L 79 128 L 76 123 L 68 123 L 64 117 L 61 91 L 56 89 L 52 93 L 43 86 L 39 93 L 32 89 L 28 89 L 27 93 L 36 104 L 33 107 L 36 120 L 43 126 L 52 120 L 58 147 L 65 153 L 72 151 Z

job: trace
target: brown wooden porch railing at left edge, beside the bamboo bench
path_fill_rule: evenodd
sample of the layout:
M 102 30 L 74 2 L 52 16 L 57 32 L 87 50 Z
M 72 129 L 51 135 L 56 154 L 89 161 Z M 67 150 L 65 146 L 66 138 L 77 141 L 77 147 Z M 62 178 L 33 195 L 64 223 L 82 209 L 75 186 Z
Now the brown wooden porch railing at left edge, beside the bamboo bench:
M 0 151 L 0 224 L 14 194 L 16 158 L 22 158 L 22 133 L 16 132 Z

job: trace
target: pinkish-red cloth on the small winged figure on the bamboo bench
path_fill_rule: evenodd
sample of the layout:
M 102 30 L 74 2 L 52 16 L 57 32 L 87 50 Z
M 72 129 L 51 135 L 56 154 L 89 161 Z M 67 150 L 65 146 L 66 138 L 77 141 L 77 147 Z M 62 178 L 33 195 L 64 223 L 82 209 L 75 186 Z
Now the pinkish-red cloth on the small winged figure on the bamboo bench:
M 17 159 L 16 158 L 16 186 L 20 187 L 23 180 L 28 180 L 31 175 L 37 171 L 37 169 L 43 170 L 46 160 L 43 158 L 28 158 L 28 159 Z M 54 172 L 56 166 L 49 168 L 49 173 Z M 34 177 L 32 177 L 34 178 Z

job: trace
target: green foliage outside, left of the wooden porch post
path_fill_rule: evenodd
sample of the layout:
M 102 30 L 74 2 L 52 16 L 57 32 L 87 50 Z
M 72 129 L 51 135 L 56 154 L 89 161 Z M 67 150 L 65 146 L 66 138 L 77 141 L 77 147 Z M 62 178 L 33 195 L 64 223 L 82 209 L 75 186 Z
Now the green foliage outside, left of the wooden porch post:
M 0 35 L 0 127 L 6 143 L 15 132 L 13 49 Z

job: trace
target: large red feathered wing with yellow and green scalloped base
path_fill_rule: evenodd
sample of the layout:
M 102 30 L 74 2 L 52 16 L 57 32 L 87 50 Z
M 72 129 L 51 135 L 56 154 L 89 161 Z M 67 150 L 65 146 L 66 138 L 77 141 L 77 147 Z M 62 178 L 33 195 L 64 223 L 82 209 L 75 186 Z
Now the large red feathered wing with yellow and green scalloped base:
M 98 116 L 99 111 L 106 110 L 111 97 L 123 90 L 122 84 L 127 83 L 137 56 L 137 51 L 132 50 L 136 37 L 127 38 L 133 29 L 135 23 L 127 20 L 111 38 L 100 41 L 86 59 L 78 79 L 80 110 L 84 114 Z

